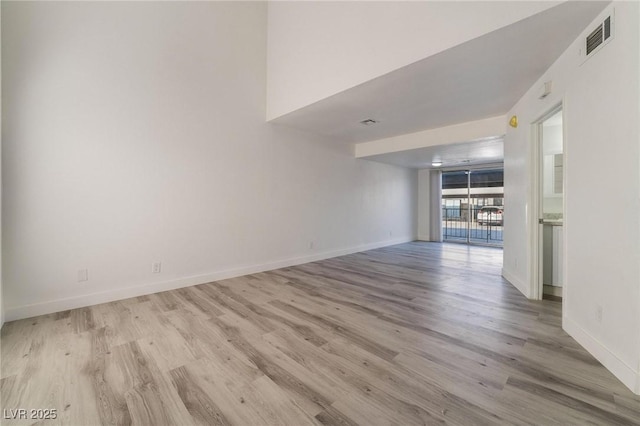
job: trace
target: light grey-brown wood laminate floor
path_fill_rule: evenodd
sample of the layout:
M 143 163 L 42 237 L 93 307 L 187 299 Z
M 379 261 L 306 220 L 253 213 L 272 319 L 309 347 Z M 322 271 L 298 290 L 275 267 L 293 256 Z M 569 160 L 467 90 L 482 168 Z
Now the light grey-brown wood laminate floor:
M 640 424 L 640 398 L 501 259 L 415 242 L 7 323 L 2 408 L 67 425 Z

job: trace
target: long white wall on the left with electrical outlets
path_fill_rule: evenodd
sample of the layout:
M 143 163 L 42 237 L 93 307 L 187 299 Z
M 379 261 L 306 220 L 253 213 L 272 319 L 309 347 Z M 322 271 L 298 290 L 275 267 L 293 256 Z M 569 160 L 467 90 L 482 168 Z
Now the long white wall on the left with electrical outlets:
M 265 123 L 266 18 L 2 3 L 7 319 L 414 239 L 416 171 Z

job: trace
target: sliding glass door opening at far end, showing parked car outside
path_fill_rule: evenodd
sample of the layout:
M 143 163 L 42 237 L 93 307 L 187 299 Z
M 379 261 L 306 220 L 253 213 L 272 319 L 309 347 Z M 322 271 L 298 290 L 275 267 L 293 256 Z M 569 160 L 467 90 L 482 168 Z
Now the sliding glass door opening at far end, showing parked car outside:
M 502 247 L 504 169 L 442 172 L 444 241 Z

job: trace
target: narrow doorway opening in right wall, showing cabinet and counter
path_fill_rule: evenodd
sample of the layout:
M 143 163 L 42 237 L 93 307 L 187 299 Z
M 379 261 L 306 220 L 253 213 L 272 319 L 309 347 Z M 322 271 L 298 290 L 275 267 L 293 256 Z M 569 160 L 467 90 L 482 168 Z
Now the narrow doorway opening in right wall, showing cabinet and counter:
M 533 292 L 538 299 L 562 301 L 564 292 L 564 132 L 562 106 L 535 124 L 538 221 L 534 236 Z

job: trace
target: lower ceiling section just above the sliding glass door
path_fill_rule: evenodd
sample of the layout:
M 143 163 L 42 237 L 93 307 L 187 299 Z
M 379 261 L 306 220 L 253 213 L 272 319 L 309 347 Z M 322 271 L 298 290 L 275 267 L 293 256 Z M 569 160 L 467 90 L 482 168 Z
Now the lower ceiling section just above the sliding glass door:
M 504 160 L 504 140 L 503 137 L 485 138 L 363 158 L 412 169 L 458 168 L 496 164 L 502 163 Z M 432 165 L 434 162 L 441 162 L 442 165 L 434 167 Z

